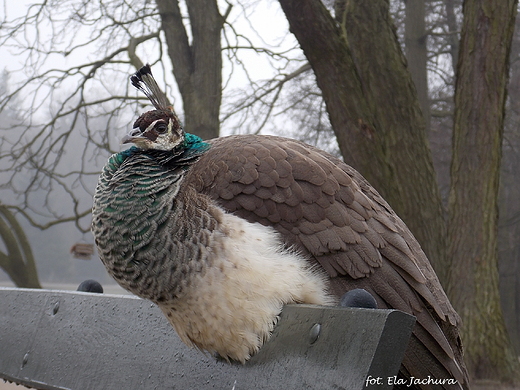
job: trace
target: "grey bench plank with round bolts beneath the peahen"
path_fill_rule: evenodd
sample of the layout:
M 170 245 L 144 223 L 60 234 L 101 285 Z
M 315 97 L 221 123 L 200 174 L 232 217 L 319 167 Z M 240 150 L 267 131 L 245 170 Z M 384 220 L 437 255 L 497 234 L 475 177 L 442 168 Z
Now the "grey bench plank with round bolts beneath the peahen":
M 0 288 L 0 378 L 38 389 L 363 389 L 368 376 L 397 374 L 414 323 L 396 310 L 289 305 L 256 356 L 228 364 L 185 346 L 150 302 Z

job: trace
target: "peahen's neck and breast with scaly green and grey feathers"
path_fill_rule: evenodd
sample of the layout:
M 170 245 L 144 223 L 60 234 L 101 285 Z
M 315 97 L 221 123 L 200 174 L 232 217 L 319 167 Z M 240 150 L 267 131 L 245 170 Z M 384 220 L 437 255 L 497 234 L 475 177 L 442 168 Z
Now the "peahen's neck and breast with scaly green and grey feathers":
M 198 246 L 206 245 L 199 237 L 190 243 L 188 232 L 197 236 L 201 230 L 214 229 L 215 217 L 208 214 L 207 204 L 200 204 L 204 199 L 193 191 L 181 191 L 189 167 L 208 147 L 190 136 L 172 151 L 130 148 L 113 155 L 103 170 L 94 197 L 96 244 L 108 271 L 137 295 L 159 301 L 156 291 L 143 289 L 138 280 L 171 282 L 157 276 L 172 255 L 163 253 L 165 247 L 176 248 L 171 273 L 180 280 L 176 274 L 182 273 L 183 262 L 195 257 Z M 179 284 L 171 293 L 182 288 Z

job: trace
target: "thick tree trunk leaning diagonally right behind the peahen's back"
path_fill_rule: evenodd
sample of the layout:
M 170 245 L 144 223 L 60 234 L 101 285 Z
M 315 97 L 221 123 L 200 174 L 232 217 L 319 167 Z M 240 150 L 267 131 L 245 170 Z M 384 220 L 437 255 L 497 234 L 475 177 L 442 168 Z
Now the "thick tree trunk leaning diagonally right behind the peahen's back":
M 313 67 L 345 161 L 417 237 L 441 282 L 446 231 L 425 122 L 386 0 L 280 0 Z M 352 38 L 350 38 L 352 37 Z

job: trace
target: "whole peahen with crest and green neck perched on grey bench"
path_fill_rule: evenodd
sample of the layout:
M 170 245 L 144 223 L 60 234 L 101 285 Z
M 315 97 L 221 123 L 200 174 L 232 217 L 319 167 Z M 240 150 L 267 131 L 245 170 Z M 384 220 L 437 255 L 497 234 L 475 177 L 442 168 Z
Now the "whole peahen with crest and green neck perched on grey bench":
M 92 208 L 99 256 L 123 288 L 157 304 L 187 345 L 242 363 L 284 305 L 338 305 L 363 289 L 378 308 L 417 318 L 400 377 L 469 388 L 460 317 L 361 174 L 289 138 L 204 141 L 184 131 L 149 65 L 130 81 L 154 109 L 123 137 L 133 146 L 108 159 Z

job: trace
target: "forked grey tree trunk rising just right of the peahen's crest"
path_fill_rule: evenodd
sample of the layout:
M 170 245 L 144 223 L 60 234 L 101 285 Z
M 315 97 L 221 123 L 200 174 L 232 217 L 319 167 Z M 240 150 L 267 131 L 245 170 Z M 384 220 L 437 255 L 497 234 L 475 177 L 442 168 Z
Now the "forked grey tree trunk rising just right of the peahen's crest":
M 220 131 L 222 100 L 221 31 L 224 20 L 215 0 L 186 0 L 191 45 L 178 0 L 156 0 L 184 107 L 184 127 L 203 139 Z

